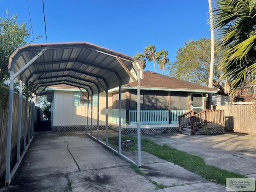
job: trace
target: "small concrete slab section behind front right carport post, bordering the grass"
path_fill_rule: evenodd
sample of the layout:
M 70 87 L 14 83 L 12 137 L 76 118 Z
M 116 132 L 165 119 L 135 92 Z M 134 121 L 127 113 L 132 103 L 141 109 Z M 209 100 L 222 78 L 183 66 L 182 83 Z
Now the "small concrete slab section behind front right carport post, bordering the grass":
M 138 161 L 138 152 L 136 151 L 122 151 L 122 154 L 133 160 L 134 162 Z M 152 154 L 149 154 L 145 151 L 141 152 L 141 164 L 149 164 L 149 163 L 163 163 L 167 162 L 166 160 L 160 159 Z

